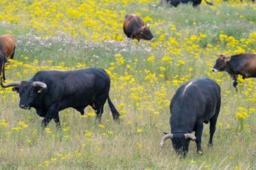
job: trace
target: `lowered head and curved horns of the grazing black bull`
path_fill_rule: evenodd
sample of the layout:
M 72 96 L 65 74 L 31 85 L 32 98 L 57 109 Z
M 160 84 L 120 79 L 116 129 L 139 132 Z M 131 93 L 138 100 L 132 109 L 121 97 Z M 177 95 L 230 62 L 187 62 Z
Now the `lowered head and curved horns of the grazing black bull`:
M 172 139 L 172 146 L 175 148 L 175 151 L 182 156 L 185 156 L 188 153 L 190 140 L 196 140 L 196 137 L 192 133 L 165 134 L 161 139 L 160 145 L 163 147 L 164 141 L 169 138 Z

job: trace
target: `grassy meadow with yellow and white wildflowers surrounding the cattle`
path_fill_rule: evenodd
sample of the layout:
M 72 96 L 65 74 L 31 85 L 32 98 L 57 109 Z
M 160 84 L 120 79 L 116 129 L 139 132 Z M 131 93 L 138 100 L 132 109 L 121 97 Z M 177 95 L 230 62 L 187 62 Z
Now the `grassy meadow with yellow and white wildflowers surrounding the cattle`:
M 54 122 L 42 130 L 42 117 L 20 109 L 18 94 L 1 88 L 0 169 L 256 169 L 256 79 L 239 79 L 235 92 L 226 72 L 212 72 L 216 54 L 256 53 L 256 5 L 213 2 L 151 8 L 157 0 L 0 0 L 0 35 L 16 38 L 7 82 L 29 80 L 38 70 L 104 68 L 121 115 L 115 124 L 106 103 L 99 124 L 90 107 L 84 116 L 66 109 L 62 130 Z M 127 40 L 129 13 L 150 23 L 155 40 Z M 179 158 L 170 140 L 159 146 L 170 131 L 170 99 L 203 76 L 222 91 L 214 147 L 207 148 L 205 124 L 203 155 L 191 142 Z

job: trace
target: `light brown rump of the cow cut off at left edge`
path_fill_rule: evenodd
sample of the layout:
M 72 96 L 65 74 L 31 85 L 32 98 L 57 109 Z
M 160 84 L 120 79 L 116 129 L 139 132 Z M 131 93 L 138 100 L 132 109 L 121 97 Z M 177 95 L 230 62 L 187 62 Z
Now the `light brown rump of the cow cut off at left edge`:
M 0 36 L 0 44 L 2 46 L 3 55 L 7 58 L 13 58 L 12 54 L 14 53 L 15 40 L 10 34 L 4 34 Z

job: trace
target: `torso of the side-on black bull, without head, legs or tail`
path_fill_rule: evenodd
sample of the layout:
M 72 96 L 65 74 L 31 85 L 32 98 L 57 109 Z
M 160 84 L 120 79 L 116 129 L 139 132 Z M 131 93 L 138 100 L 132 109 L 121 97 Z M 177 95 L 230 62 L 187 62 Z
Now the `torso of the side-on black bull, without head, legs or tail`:
M 101 95 L 107 98 L 110 91 L 110 76 L 98 68 L 40 71 L 31 81 L 47 84 L 45 97 L 38 102 L 46 106 L 55 102 L 60 110 L 68 107 L 84 108 Z

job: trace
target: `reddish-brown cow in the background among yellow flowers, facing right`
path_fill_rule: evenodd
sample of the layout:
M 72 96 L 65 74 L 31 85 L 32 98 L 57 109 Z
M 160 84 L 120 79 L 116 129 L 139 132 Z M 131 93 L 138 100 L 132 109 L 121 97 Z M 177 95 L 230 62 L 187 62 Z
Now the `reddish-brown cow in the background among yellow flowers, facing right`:
M 136 16 L 136 14 L 128 14 L 125 16 L 125 22 L 123 24 L 123 30 L 125 35 L 131 39 L 152 40 L 153 35 L 147 27 L 142 18 Z

